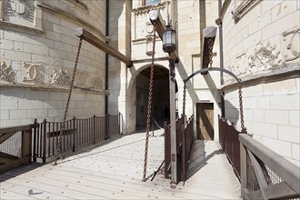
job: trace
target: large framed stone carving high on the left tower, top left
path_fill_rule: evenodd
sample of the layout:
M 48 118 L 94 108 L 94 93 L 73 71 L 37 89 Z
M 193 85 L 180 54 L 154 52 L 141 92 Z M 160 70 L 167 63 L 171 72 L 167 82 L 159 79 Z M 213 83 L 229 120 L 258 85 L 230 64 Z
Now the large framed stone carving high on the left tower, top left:
M 4 0 L 5 21 L 20 25 L 34 25 L 35 0 Z

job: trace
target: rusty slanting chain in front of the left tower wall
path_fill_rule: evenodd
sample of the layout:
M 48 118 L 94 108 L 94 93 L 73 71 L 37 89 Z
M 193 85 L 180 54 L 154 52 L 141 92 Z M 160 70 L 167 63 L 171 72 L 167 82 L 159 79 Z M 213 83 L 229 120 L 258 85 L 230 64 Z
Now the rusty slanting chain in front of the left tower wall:
M 76 55 L 76 60 L 75 60 L 75 66 L 74 66 L 74 69 L 73 69 L 72 80 L 71 80 L 71 83 L 70 83 L 69 95 L 67 97 L 67 101 L 66 101 L 66 105 L 65 105 L 64 121 L 63 121 L 63 125 L 62 125 L 62 127 L 60 129 L 60 132 L 59 132 L 58 144 L 56 146 L 56 151 L 55 151 L 55 162 L 54 162 L 53 165 L 57 165 L 57 159 L 58 159 L 59 149 L 60 149 L 60 146 L 62 144 L 62 135 L 63 135 L 63 133 L 65 131 L 65 119 L 66 119 L 67 111 L 69 109 L 69 104 L 70 104 L 72 90 L 73 90 L 73 86 L 74 86 L 75 74 L 76 74 L 76 69 L 77 69 L 77 65 L 78 65 L 78 59 L 79 59 L 80 49 L 81 49 L 82 43 L 83 43 L 83 39 L 80 38 L 79 45 L 78 45 L 78 50 L 77 50 L 77 55 Z

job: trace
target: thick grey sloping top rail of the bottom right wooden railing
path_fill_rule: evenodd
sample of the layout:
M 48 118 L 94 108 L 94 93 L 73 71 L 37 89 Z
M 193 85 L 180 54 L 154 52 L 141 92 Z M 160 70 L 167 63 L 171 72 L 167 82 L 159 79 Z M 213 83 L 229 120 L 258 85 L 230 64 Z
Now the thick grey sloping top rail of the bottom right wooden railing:
M 290 185 L 297 194 L 300 194 L 300 173 L 298 166 L 292 164 L 283 156 L 276 154 L 265 145 L 257 142 L 249 135 L 240 134 L 239 140 L 249 151 L 262 160 L 265 165 L 283 178 L 285 183 Z

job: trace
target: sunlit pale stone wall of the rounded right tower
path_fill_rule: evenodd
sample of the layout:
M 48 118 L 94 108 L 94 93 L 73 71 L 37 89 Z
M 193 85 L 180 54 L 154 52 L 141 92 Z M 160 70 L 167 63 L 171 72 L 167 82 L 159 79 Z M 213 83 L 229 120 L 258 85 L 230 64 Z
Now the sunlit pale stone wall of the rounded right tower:
M 300 160 L 299 13 L 298 1 L 234 1 L 223 20 L 225 68 L 243 80 L 248 133 L 296 165 Z M 225 115 L 239 127 L 234 83 L 225 76 Z

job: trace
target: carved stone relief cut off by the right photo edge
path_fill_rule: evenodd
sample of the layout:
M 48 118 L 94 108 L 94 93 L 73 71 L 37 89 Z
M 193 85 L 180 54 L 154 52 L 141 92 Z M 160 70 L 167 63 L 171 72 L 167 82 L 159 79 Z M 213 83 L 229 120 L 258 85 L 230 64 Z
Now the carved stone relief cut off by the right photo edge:
M 282 35 L 284 36 L 283 40 L 286 48 L 284 55 L 285 62 L 291 62 L 300 58 L 300 28 L 284 32 Z

